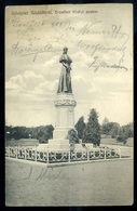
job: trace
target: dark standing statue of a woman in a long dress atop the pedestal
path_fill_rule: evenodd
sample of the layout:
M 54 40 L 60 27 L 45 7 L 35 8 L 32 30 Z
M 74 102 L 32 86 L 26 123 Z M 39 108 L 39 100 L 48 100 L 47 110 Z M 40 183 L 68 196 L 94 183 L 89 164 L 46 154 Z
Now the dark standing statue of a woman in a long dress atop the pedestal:
M 63 55 L 59 58 L 59 63 L 61 63 L 63 66 L 61 66 L 57 93 L 72 93 L 71 77 L 70 77 L 72 61 L 67 55 L 67 52 L 68 52 L 68 48 L 65 47 Z

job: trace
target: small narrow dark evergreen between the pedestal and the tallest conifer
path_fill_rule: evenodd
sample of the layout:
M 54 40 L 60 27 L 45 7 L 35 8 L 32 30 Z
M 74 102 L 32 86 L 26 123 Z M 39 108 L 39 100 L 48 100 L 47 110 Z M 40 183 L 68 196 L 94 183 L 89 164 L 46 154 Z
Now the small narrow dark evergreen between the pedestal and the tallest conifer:
M 80 117 L 78 122 L 76 123 L 76 129 L 78 131 L 78 137 L 82 140 L 83 137 L 83 131 L 85 129 L 85 122 L 84 122 L 84 117 Z

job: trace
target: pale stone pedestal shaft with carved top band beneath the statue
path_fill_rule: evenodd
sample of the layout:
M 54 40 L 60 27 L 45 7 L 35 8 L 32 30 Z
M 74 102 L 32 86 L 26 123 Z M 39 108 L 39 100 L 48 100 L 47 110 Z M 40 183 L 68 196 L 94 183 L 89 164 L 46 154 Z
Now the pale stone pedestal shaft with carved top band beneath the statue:
M 56 122 L 53 139 L 66 139 L 69 129 L 74 129 L 74 106 L 77 102 L 71 93 L 57 94 L 54 101 Z

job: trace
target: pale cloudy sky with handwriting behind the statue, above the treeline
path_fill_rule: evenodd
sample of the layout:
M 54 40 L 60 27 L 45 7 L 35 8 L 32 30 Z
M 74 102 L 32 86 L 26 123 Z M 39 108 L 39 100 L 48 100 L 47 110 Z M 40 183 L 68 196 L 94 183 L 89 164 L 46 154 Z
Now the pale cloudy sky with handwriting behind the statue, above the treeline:
M 8 6 L 5 123 L 55 126 L 65 45 L 72 60 L 76 123 L 81 116 L 86 122 L 92 108 L 99 123 L 105 117 L 121 126 L 132 122 L 132 5 Z

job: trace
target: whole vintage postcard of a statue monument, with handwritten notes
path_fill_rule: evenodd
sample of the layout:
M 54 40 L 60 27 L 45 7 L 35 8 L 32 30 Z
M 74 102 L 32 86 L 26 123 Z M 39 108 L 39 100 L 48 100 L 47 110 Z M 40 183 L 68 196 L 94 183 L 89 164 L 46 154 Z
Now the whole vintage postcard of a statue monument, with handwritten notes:
M 133 72 L 132 4 L 5 8 L 6 206 L 133 203 Z

